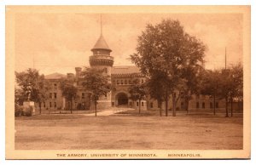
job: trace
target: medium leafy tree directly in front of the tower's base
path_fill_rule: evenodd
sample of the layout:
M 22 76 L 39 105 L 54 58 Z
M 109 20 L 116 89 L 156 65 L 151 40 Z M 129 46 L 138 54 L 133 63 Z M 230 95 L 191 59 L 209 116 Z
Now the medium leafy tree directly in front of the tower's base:
M 85 68 L 81 76 L 83 77 L 82 85 L 90 91 L 90 98 L 95 104 L 95 116 L 97 116 L 97 100 L 111 91 L 110 77 L 105 74 L 104 70 L 95 68 Z

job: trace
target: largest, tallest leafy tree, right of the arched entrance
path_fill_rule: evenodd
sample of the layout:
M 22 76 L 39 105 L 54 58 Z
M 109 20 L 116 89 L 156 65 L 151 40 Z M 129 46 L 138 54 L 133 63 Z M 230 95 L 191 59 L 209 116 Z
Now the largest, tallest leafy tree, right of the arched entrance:
M 161 74 L 165 77 L 162 85 L 165 88 L 166 116 L 170 95 L 172 116 L 176 116 L 176 103 L 180 98 L 180 90 L 184 88 L 181 85 L 189 78 L 185 77 L 183 70 L 203 64 L 206 46 L 184 32 L 178 20 L 162 20 L 155 26 L 146 26 L 146 30 L 138 37 L 136 50 L 137 53 L 131 55 L 131 61 L 144 76 L 150 79 L 155 74 Z

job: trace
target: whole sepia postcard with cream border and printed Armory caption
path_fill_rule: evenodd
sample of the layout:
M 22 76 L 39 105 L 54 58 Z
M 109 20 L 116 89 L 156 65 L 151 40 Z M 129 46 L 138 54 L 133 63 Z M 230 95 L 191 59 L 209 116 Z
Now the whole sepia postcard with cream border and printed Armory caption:
M 249 159 L 250 6 L 6 6 L 6 159 Z

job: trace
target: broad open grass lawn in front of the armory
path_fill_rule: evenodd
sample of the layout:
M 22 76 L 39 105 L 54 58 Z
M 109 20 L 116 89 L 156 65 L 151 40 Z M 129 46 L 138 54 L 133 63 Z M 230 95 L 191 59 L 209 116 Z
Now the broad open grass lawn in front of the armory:
M 16 117 L 15 130 L 16 150 L 242 149 L 242 117 L 49 114 Z

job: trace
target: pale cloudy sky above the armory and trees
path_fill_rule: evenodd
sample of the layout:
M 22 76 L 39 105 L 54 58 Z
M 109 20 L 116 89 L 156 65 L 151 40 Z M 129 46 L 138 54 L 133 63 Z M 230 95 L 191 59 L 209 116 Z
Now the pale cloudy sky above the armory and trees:
M 15 14 L 15 71 L 28 67 L 41 74 L 75 72 L 89 66 L 90 49 L 101 32 L 100 14 Z M 207 69 L 242 60 L 242 14 L 102 14 L 102 34 L 113 50 L 113 65 L 133 65 L 137 37 L 147 24 L 179 20 L 184 31 L 207 45 Z

